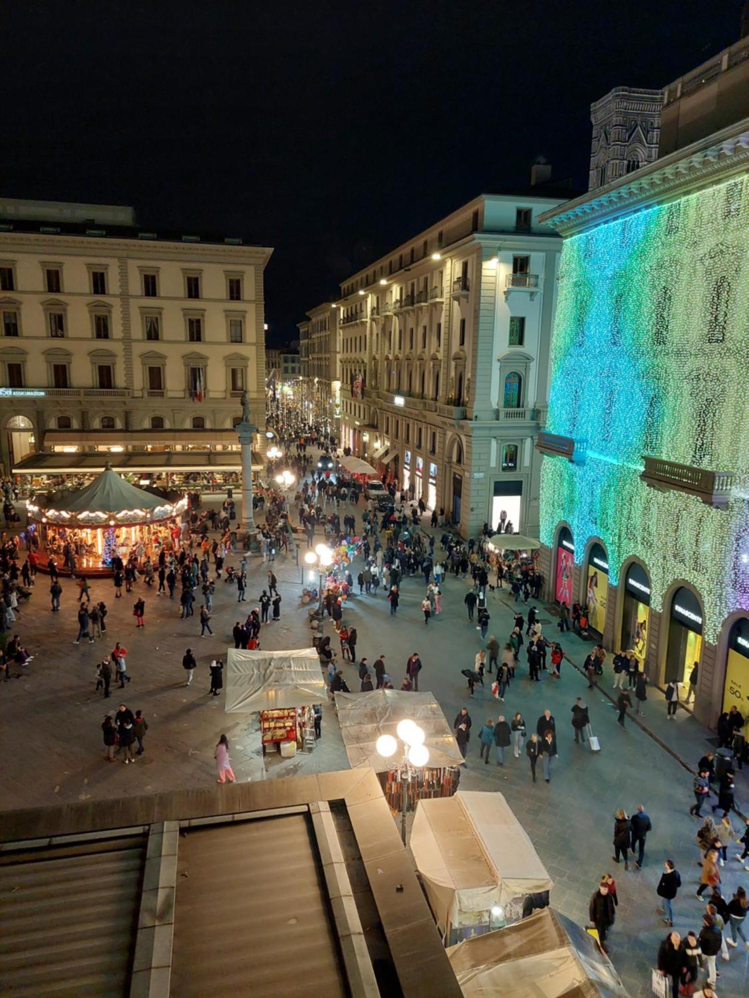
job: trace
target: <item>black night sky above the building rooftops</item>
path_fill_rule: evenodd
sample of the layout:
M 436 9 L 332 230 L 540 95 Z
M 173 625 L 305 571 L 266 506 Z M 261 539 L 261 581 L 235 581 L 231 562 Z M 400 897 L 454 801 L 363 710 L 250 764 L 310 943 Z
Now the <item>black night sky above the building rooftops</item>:
M 740 0 L 5 0 L 6 197 L 133 205 L 275 247 L 272 338 L 543 155 L 587 184 L 589 105 L 739 36 Z

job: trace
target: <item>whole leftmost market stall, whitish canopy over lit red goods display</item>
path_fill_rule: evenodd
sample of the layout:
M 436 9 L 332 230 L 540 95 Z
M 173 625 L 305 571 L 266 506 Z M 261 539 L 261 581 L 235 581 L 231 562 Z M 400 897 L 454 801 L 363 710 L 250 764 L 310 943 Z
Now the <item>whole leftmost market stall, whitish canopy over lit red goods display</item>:
M 315 705 L 328 688 L 314 648 L 285 652 L 230 648 L 226 671 L 227 714 L 260 713 L 264 753 L 293 755 L 315 746 Z

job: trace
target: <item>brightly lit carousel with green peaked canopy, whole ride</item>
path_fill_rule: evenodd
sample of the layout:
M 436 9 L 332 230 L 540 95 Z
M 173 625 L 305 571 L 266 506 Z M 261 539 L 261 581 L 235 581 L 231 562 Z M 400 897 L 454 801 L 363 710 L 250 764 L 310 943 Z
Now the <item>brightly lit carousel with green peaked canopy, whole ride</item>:
M 84 489 L 30 499 L 27 530 L 43 571 L 54 558 L 61 575 L 112 575 L 117 557 L 155 563 L 178 546 L 187 508 L 186 495 L 139 489 L 107 465 Z

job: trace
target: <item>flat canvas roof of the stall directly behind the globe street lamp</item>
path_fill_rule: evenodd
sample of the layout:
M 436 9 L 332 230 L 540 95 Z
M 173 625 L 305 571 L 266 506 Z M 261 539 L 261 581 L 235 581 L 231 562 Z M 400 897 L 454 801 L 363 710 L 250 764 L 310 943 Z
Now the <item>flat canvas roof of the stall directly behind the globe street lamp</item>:
M 372 693 L 337 693 L 341 735 L 352 768 L 369 765 L 375 772 L 389 768 L 377 752 L 380 735 L 395 735 L 397 723 L 404 718 L 422 728 L 429 749 L 429 766 L 460 765 L 463 757 L 457 748 L 452 728 L 430 693 L 405 693 L 401 690 L 374 690 Z

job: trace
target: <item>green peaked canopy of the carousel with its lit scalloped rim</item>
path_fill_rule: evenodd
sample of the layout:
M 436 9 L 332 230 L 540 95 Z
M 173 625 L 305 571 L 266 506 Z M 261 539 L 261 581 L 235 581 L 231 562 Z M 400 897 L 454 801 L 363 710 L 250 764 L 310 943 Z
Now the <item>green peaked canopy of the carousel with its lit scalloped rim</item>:
M 107 465 L 86 488 L 35 497 L 28 504 L 28 511 L 37 520 L 46 517 L 50 523 L 96 527 L 108 525 L 110 520 L 115 525 L 166 520 L 186 506 L 185 497 L 170 502 L 131 485 Z

